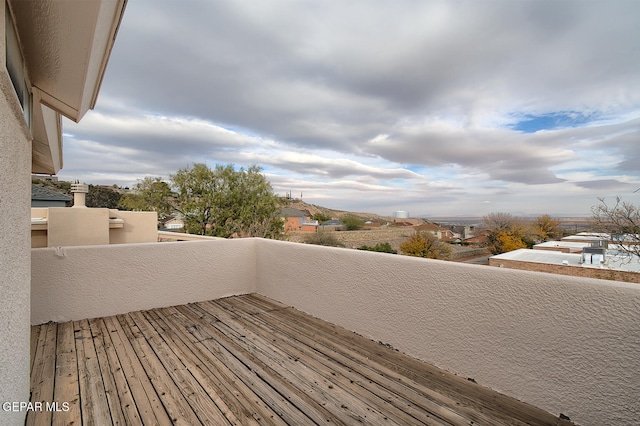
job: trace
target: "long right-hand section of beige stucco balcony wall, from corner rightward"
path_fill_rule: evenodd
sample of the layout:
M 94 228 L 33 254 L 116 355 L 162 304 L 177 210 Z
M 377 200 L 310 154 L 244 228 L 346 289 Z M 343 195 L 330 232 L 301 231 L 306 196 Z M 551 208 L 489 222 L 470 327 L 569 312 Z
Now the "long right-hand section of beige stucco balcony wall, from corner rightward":
M 640 286 L 260 240 L 257 291 L 581 425 L 640 418 Z

